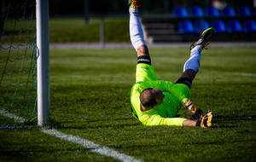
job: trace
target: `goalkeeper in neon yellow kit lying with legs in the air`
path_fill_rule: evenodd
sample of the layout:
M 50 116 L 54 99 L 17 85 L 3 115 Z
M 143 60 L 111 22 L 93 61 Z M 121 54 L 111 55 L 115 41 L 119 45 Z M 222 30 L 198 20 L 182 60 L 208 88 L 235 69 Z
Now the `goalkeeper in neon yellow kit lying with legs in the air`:
M 129 0 L 130 37 L 137 51 L 136 84 L 131 88 L 131 111 L 144 125 L 212 126 L 212 112 L 206 114 L 189 100 L 192 80 L 199 70 L 201 50 L 207 47 L 213 29 L 208 28 L 190 47 L 189 60 L 183 66 L 183 74 L 176 84 L 160 81 L 156 77 L 143 29 L 137 16 L 137 1 Z M 187 119 L 176 118 L 177 111 L 185 107 Z

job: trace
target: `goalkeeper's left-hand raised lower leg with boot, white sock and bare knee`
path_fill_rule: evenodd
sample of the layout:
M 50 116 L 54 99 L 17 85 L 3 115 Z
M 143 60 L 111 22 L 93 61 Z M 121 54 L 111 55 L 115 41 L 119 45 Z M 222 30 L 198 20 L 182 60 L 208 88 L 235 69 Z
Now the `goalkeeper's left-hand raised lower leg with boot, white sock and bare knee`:
M 144 41 L 143 27 L 138 18 L 138 7 L 137 1 L 129 0 L 129 13 L 130 13 L 130 38 L 131 44 L 137 51 L 137 57 L 144 56 L 143 59 L 149 57 L 148 47 Z M 146 57 L 145 57 L 146 56 Z M 148 58 L 150 60 L 150 57 Z

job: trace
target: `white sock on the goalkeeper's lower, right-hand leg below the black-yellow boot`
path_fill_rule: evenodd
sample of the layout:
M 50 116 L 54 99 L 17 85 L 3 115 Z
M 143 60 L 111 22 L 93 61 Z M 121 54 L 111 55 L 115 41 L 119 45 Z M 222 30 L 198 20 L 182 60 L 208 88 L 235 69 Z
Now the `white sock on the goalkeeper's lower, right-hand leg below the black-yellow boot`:
M 188 69 L 194 70 L 196 73 L 199 71 L 201 61 L 201 45 L 197 45 L 191 50 L 189 60 L 185 62 L 183 72 Z

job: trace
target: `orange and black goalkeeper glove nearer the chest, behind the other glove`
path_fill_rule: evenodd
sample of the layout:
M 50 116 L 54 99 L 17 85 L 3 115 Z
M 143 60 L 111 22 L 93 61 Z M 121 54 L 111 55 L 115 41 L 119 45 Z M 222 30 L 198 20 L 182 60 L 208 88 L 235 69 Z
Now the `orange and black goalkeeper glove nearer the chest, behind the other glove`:
M 190 100 L 185 101 L 183 103 L 183 107 L 186 107 L 187 109 L 187 119 L 198 121 L 205 116 L 205 113 L 203 113 L 198 107 L 195 107 Z

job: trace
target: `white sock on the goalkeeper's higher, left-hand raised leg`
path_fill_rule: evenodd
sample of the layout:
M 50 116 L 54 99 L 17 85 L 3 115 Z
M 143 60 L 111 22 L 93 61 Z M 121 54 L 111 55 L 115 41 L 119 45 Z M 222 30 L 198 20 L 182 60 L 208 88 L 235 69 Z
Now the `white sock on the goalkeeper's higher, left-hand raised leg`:
M 143 27 L 137 16 L 138 9 L 129 8 L 130 13 L 130 38 L 131 44 L 134 49 L 137 49 L 142 45 L 147 45 L 144 41 Z

